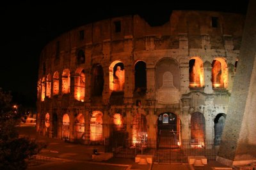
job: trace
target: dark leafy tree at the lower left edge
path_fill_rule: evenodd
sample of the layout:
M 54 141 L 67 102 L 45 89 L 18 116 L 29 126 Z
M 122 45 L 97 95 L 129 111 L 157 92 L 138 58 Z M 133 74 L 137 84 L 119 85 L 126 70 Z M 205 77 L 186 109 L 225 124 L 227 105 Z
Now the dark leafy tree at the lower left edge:
M 12 96 L 0 89 L 0 169 L 26 169 L 33 155 L 44 144 L 29 138 L 19 138 L 17 126 L 21 114 L 11 105 Z

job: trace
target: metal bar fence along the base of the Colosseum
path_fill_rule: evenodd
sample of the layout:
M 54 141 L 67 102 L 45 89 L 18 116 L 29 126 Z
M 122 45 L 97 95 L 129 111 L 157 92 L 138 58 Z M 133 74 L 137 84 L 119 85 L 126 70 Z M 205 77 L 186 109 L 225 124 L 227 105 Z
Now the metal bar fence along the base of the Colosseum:
M 154 155 L 159 163 L 186 163 L 188 156 L 205 156 L 207 160 L 215 160 L 217 147 L 214 140 L 183 139 L 181 141 L 161 140 L 134 142 L 127 139 L 123 143 L 118 140 L 105 142 L 105 151 L 113 152 L 115 157 L 134 158 L 136 155 Z

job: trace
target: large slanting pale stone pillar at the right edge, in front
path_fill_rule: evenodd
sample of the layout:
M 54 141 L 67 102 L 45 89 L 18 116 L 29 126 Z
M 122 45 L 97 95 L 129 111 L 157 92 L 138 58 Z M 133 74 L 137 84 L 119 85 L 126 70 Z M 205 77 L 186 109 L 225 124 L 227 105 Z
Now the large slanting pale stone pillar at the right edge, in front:
M 216 160 L 227 166 L 256 161 L 256 1 L 248 5 L 239 64 Z

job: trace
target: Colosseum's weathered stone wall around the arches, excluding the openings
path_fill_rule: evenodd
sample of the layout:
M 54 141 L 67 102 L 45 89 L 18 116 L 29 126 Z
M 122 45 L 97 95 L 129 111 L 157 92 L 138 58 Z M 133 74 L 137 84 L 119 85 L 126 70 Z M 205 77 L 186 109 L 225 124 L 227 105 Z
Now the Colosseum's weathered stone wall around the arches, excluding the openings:
M 58 127 L 52 122 L 47 131 L 51 131 L 52 137 L 55 135 L 52 129 L 58 128 L 58 138 L 63 138 L 62 118 L 68 114 L 68 138 L 74 140 L 76 117 L 81 113 L 85 124 L 83 139 L 90 142 L 93 111 L 102 114 L 102 139 L 111 136 L 115 113 L 122 115 L 120 121 L 124 126 L 119 130 L 128 132 L 132 138 L 135 113 L 143 113 L 147 120 L 147 138 L 156 140 L 157 118 L 161 113 L 174 113 L 180 121 L 177 129 L 182 127 L 180 138 L 190 139 L 191 116 L 199 112 L 204 118 L 200 120 L 205 121 L 204 138 L 214 139 L 214 118 L 220 113 L 227 114 L 243 23 L 244 16 L 234 13 L 173 11 L 170 21 L 158 27 L 150 27 L 143 18 L 134 15 L 72 29 L 42 50 L 37 103 L 40 122 L 45 121 L 47 113 L 51 122 L 56 113 Z M 198 82 L 189 80 L 191 59 L 200 61 L 197 66 L 200 70 L 196 72 Z M 212 85 L 215 60 L 221 64 L 223 87 Z M 145 63 L 146 87 L 135 85 L 135 66 L 139 61 Z M 125 73 L 122 90 L 116 90 L 121 81 L 115 75 L 117 66 Z M 64 70 L 67 74 L 63 74 Z M 53 85 L 56 72 L 60 92 L 54 94 L 50 86 L 51 95 L 45 97 L 42 80 L 48 76 L 47 81 Z M 84 75 L 84 89 L 81 75 Z M 64 94 L 61 90 L 68 82 L 70 92 Z M 97 82 L 102 82 L 102 92 L 93 96 L 97 94 L 92 92 L 97 89 Z M 44 129 L 44 123 L 37 126 L 37 131 L 46 135 Z

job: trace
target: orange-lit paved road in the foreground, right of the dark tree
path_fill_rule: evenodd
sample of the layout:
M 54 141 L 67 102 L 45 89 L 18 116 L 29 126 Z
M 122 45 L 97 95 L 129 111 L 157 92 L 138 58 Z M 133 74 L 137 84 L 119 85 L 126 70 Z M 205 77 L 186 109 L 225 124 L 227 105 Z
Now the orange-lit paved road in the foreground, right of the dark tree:
M 19 134 L 35 138 L 36 141 L 41 141 L 47 144 L 47 148 L 40 152 L 40 156 L 58 159 L 58 161 L 46 161 L 38 166 L 30 166 L 28 170 L 79 170 L 79 169 L 104 169 L 104 170 L 122 170 L 122 169 L 141 169 L 141 170 L 210 170 L 212 167 L 223 167 L 216 161 L 209 161 L 207 166 L 189 166 L 188 164 L 138 164 L 134 159 L 111 158 L 102 162 L 92 160 L 92 151 L 97 148 L 98 152 L 104 152 L 104 146 L 86 146 L 74 143 L 66 143 L 61 139 L 47 138 L 36 134 L 35 127 L 19 127 Z M 225 167 L 225 166 L 224 166 Z

